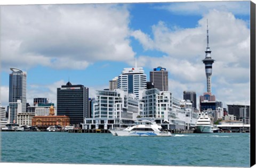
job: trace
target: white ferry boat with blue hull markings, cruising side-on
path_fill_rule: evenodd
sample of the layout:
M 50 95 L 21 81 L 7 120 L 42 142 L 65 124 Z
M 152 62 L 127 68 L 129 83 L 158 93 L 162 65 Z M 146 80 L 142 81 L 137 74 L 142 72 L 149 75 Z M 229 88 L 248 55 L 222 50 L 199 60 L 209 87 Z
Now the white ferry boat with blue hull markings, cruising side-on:
M 110 129 L 114 136 L 172 136 L 171 132 L 161 131 L 162 127 L 157 125 L 154 118 L 141 118 L 132 127 L 121 129 Z

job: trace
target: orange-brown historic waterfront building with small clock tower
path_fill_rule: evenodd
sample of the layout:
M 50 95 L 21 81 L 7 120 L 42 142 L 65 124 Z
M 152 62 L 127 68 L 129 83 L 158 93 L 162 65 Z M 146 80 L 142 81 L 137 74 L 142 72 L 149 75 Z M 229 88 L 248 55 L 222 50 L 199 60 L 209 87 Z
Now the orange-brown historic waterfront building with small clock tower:
M 34 116 L 32 119 L 32 125 L 39 129 L 46 129 L 49 126 L 60 125 L 66 127 L 70 125 L 68 116 L 54 115 L 54 107 L 51 106 L 48 116 Z

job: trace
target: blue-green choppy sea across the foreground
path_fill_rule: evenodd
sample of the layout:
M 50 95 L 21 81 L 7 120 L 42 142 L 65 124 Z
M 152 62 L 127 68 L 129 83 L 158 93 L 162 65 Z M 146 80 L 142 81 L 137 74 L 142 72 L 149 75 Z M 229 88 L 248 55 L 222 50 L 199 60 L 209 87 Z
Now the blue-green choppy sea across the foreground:
M 249 133 L 191 133 L 172 137 L 0 133 L 1 162 L 250 167 Z

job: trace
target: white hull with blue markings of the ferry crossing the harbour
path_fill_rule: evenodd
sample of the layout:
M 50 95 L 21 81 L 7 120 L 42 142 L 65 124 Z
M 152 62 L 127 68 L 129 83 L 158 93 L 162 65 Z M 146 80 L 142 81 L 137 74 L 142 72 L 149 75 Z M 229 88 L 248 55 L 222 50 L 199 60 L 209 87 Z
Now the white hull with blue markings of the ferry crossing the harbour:
M 171 132 L 147 132 L 147 131 L 124 131 L 124 130 L 109 130 L 113 136 L 172 136 Z

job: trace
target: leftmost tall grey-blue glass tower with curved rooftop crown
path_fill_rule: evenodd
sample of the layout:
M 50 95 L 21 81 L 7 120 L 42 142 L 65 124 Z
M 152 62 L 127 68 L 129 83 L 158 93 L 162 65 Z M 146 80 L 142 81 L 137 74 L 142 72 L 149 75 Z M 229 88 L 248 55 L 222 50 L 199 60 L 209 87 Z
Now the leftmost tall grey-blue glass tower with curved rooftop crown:
M 22 112 L 26 112 L 27 73 L 17 68 L 10 68 L 12 73 L 9 79 L 9 103 L 17 103 L 21 100 Z

